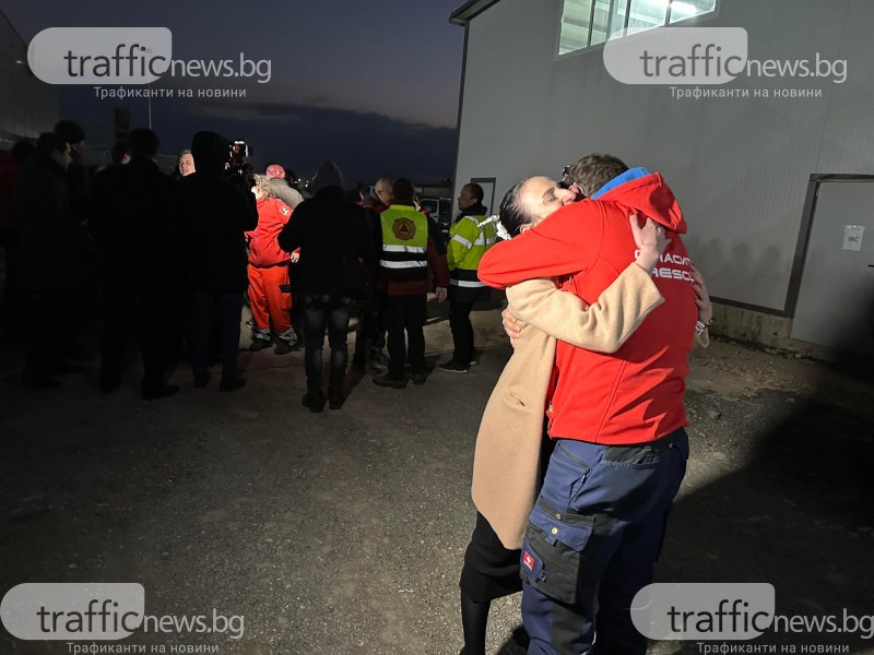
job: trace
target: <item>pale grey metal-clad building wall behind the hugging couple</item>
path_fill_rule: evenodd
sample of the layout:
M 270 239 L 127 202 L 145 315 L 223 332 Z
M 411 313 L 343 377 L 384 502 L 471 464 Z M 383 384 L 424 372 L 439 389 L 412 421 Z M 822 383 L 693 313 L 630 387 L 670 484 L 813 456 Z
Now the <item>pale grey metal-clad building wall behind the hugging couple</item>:
M 742 78 L 732 88 L 822 88 L 820 98 L 676 100 L 628 86 L 602 49 L 556 59 L 560 0 L 500 0 L 469 25 L 457 184 L 557 177 L 590 152 L 664 175 L 711 295 L 784 308 L 812 174 L 874 172 L 874 3 L 720 0 L 699 26 L 740 26 L 753 59 L 847 59 L 848 80 Z

